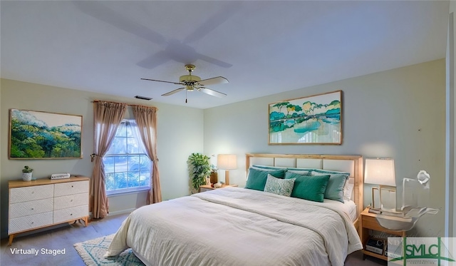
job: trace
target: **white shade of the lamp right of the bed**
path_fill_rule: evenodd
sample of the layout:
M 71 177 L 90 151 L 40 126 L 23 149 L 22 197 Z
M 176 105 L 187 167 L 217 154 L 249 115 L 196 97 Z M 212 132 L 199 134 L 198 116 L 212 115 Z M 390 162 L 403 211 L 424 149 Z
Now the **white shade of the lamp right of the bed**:
M 393 159 L 366 159 L 364 183 L 396 186 Z

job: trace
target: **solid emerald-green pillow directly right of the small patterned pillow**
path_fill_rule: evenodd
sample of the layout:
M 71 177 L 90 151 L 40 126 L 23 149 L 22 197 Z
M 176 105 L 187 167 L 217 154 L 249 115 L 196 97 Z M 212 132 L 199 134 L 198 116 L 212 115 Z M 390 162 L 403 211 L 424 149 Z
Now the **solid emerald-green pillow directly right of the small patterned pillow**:
M 291 197 L 312 200 L 319 203 L 323 202 L 326 185 L 328 185 L 329 175 L 299 175 L 297 173 L 286 172 L 285 179 L 296 178 L 294 180 Z

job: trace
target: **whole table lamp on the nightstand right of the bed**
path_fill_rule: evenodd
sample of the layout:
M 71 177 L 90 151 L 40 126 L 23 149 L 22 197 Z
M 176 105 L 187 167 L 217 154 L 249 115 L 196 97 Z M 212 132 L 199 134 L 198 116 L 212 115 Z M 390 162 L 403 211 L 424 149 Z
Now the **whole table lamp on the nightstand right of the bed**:
M 382 200 L 383 193 L 390 193 L 393 196 L 390 198 L 395 199 L 395 174 L 394 174 L 394 160 L 393 159 L 380 159 L 372 158 L 366 159 L 364 183 L 378 185 L 378 188 L 372 188 L 372 205 L 371 208 L 378 213 L 378 210 L 385 210 Z M 375 203 L 375 191 L 378 191 L 380 202 Z M 378 205 L 379 204 L 379 205 Z M 388 210 L 395 210 L 395 200 L 393 206 L 388 206 Z

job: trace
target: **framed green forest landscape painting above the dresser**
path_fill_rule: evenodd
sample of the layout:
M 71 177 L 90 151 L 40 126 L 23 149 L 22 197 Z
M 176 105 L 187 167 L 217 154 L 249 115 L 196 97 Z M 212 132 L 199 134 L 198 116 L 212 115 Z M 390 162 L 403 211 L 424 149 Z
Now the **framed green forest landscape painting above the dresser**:
M 82 116 L 10 109 L 9 158 L 82 158 L 82 125 Z

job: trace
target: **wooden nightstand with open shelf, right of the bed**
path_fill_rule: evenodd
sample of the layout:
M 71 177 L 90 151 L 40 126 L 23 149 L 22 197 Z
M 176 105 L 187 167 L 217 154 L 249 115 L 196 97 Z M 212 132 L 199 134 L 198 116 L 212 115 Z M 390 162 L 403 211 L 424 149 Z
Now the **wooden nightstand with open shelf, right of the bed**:
M 399 237 L 405 237 L 405 231 L 388 230 L 385 227 L 382 227 L 381 225 L 378 224 L 376 217 L 377 217 L 377 214 L 369 213 L 369 208 L 364 209 L 363 212 L 361 213 L 360 238 L 361 238 L 361 241 L 363 242 L 363 258 L 366 257 L 366 255 L 369 255 L 372 257 L 378 257 L 379 259 L 382 259 L 382 260 L 388 260 L 388 257 L 386 257 L 384 255 L 380 255 L 375 252 L 366 250 L 366 241 L 370 237 L 369 230 L 385 232 L 387 234 L 397 235 Z

